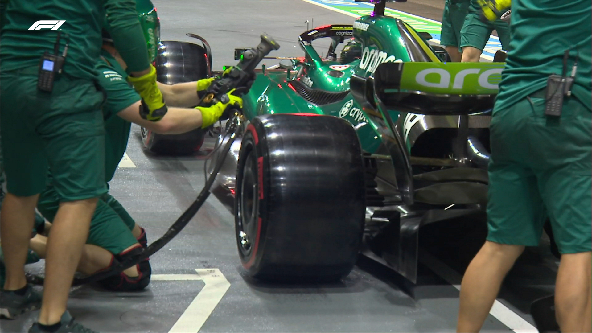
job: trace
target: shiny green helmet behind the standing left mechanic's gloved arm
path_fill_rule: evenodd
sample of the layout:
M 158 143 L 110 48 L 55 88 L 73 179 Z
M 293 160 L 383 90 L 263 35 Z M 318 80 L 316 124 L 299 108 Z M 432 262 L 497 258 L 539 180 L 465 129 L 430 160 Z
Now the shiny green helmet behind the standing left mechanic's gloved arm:
M 136 12 L 138 13 L 138 20 L 140 21 L 144 38 L 146 39 L 148 58 L 150 62 L 154 62 L 156 60 L 158 44 L 160 43 L 160 19 L 156 13 L 156 7 L 154 7 L 150 0 L 136 0 Z M 104 41 L 113 41 L 106 17 L 102 37 Z

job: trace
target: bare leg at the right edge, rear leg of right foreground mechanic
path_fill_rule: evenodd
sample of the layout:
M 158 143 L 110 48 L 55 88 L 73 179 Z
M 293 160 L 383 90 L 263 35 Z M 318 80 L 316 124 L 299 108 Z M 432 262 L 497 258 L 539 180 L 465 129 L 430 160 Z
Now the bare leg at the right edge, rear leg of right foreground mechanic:
M 555 315 L 561 332 L 590 332 L 591 252 L 562 254 L 555 284 Z

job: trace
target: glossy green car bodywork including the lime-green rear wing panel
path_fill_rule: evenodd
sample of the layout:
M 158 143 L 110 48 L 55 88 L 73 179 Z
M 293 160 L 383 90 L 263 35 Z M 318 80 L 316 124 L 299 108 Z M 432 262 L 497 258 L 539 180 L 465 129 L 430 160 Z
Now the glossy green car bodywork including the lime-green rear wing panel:
M 348 30 L 353 34 L 348 34 Z M 361 45 L 361 57 L 342 63 L 340 59 L 321 59 L 306 36 L 320 34 L 332 36 L 331 31 L 340 31 L 341 36 L 352 36 Z M 392 17 L 367 15 L 352 26 L 327 25 L 301 34 L 300 44 L 305 56 L 293 59 L 293 68 L 262 69 L 243 97 L 247 119 L 263 114 L 312 113 L 336 116 L 348 120 L 358 133 L 362 149 L 375 153 L 383 142 L 379 133 L 395 130 L 392 124 L 401 115 L 397 110 L 364 110 L 349 92 L 353 74 L 372 76 L 378 65 L 384 62 L 405 63 L 400 76 L 402 91 L 423 91 L 431 94 L 497 94 L 504 63 L 446 63 L 429 46 L 426 40 L 404 21 Z M 336 42 L 335 42 L 336 43 Z M 330 53 L 330 52 L 329 52 Z M 328 53 L 328 54 L 329 54 Z M 334 73 L 341 72 L 336 77 Z M 333 74 L 333 75 L 332 75 Z M 298 89 L 300 86 L 300 89 Z M 308 94 L 342 94 L 333 103 L 314 103 L 307 100 Z M 368 117 L 368 113 L 380 117 Z M 389 117 L 385 117 L 388 112 Z M 405 114 L 402 115 L 404 117 Z M 390 118 L 392 122 L 389 125 Z M 385 121 L 382 121 L 385 120 Z M 390 128 L 385 128 L 390 127 Z M 407 145 L 411 149 L 410 145 Z

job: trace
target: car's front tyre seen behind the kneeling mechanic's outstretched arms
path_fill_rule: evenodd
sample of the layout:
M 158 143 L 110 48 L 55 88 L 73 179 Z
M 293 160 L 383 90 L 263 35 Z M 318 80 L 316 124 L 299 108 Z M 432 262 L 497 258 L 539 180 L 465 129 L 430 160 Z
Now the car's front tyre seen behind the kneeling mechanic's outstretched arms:
M 163 84 L 176 84 L 207 78 L 210 76 L 210 60 L 204 47 L 198 44 L 162 41 L 156 57 L 156 79 Z M 200 150 L 204 143 L 205 130 L 195 129 L 183 134 L 164 135 L 142 127 L 141 137 L 144 147 L 153 153 L 188 155 Z

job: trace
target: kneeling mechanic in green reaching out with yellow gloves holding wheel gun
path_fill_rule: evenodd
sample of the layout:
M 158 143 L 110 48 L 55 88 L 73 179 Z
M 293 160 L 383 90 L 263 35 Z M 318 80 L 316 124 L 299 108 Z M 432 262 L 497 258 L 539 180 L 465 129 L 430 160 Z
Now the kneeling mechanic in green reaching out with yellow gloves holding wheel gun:
M 149 46 L 150 61 L 156 60 L 156 46 L 160 36 L 159 19 L 149 0 L 137 0 L 136 8 Z M 153 130 L 156 133 L 179 134 L 208 127 L 221 116 L 227 105 L 239 104 L 240 97 L 230 95 L 227 104 L 218 103 L 212 107 L 179 108 L 172 105 L 192 106 L 198 104 L 198 91 L 210 85 L 214 78 L 179 85 L 160 85 L 168 112 L 159 121 L 150 121 L 140 116 L 141 97 L 126 82 L 126 63 L 115 49 L 110 33 L 104 31 L 101 60 L 97 66 L 99 84 L 107 93 L 107 100 L 102 108 L 105 123 L 105 182 L 111 181 L 117 166 L 123 158 L 130 135 L 131 123 Z M 49 221 L 56 216 L 60 197 L 53 186 L 41 193 L 37 208 Z M 91 220 L 87 244 L 83 249 L 78 271 L 94 274 L 121 261 L 126 255 L 146 247 L 146 232 L 134 221 L 121 204 L 110 194 L 99 197 L 96 210 Z M 44 256 L 47 238 L 36 235 L 31 239 L 30 247 L 41 257 Z M 109 290 L 141 290 L 150 281 L 150 264 L 146 259 L 126 271 L 98 281 Z

